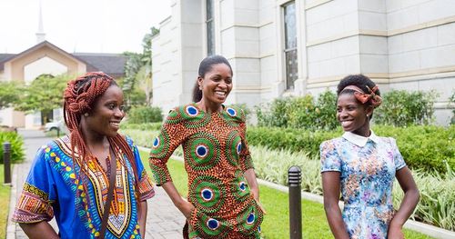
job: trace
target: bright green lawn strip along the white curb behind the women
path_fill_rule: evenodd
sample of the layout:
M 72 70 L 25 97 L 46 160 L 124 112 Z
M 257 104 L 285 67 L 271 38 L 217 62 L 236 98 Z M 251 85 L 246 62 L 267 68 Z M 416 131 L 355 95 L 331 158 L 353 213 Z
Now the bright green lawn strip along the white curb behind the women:
M 141 158 L 147 168 L 147 173 L 151 174 L 150 167 L 147 166 L 148 152 L 141 152 Z M 183 163 L 177 160 L 169 160 L 167 166 L 178 192 L 186 196 L 187 173 L 185 172 Z M 265 239 L 288 238 L 288 194 L 263 185 L 260 185 L 259 191 L 261 203 L 268 213 L 261 226 L 263 237 Z M 303 238 L 333 238 L 322 204 L 302 200 L 301 206 Z M 405 237 L 416 239 L 432 238 L 410 230 L 405 230 Z

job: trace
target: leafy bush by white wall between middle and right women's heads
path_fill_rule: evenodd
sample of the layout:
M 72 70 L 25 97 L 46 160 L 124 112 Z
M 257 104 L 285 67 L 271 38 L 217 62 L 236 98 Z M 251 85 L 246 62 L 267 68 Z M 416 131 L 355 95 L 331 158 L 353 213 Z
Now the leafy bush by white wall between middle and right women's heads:
M 278 98 L 256 107 L 258 126 L 330 130 L 338 126 L 337 95 L 325 91 L 317 101 L 312 95 Z

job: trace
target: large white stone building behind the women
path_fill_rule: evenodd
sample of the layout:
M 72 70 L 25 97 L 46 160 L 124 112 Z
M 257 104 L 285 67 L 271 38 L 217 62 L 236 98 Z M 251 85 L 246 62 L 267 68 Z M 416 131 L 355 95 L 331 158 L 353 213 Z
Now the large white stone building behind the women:
M 228 103 L 318 95 L 350 74 L 389 89 L 440 93 L 439 124 L 455 91 L 453 0 L 171 0 L 152 39 L 154 105 L 191 100 L 197 67 L 224 55 L 234 71 Z

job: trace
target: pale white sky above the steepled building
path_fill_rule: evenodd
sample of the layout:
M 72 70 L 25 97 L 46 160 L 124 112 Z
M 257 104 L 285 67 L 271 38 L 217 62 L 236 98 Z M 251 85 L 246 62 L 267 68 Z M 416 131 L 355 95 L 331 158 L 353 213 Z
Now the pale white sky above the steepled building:
M 45 40 L 68 53 L 142 52 L 171 14 L 170 0 L 0 0 L 0 54 L 36 45 L 40 2 Z

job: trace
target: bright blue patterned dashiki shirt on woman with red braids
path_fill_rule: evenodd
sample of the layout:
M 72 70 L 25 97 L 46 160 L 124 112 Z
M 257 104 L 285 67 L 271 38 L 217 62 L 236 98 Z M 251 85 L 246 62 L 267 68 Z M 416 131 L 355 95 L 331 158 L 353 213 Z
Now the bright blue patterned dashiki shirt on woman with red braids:
M 139 201 L 142 202 L 155 195 L 153 184 L 136 145 L 128 137 L 126 142 L 135 155 Z M 73 164 L 69 145 L 69 138 L 64 136 L 38 150 L 15 206 L 13 221 L 25 224 L 48 222 L 56 216 L 61 238 L 96 238 L 101 230 L 109 177 L 96 159 L 89 160 L 88 177 L 82 179 L 86 182 L 85 194 L 84 186 L 77 176 L 80 167 Z M 105 238 L 141 238 L 135 199 L 135 174 L 126 155 L 119 148 L 115 151 L 116 186 Z M 122 157 L 125 163 L 118 160 Z

